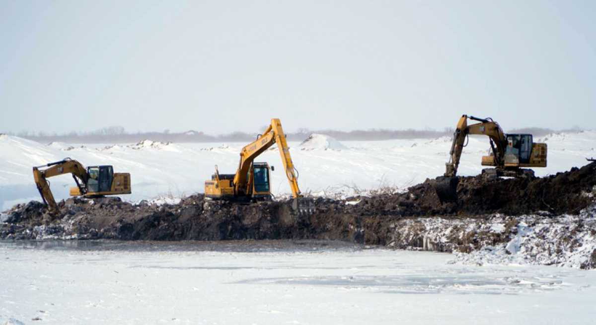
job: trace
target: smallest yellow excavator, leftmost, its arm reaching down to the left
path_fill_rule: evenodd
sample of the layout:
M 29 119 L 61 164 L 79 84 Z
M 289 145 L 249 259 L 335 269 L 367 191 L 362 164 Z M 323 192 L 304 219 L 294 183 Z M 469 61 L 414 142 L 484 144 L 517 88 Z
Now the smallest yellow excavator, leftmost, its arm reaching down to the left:
M 114 169 L 109 165 L 85 168 L 80 162 L 67 157 L 59 162 L 33 167 L 35 185 L 41 194 L 41 199 L 52 214 L 58 213 L 58 205 L 49 188 L 48 178 L 63 174 L 72 174 L 76 182 L 76 187 L 70 188 L 70 196 L 91 198 L 131 194 L 131 174 L 114 173 Z

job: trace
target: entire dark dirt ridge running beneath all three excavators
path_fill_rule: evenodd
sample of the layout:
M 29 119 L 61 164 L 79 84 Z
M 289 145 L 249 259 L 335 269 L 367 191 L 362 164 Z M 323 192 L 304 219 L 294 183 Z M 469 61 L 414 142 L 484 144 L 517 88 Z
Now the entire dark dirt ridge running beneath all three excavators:
M 42 203 L 32 201 L 5 212 L 0 239 L 333 239 L 387 244 L 399 232 L 393 228 L 395 221 L 404 218 L 578 214 L 594 202 L 596 162 L 544 178 L 459 177 L 454 202 L 441 202 L 434 182 L 427 179 L 401 194 L 353 198 L 360 200 L 355 205 L 315 199 L 311 215 L 294 212 L 290 201 L 241 204 L 196 194 L 161 206 L 132 205 L 116 197 L 68 199 L 52 218 Z

